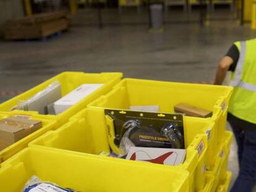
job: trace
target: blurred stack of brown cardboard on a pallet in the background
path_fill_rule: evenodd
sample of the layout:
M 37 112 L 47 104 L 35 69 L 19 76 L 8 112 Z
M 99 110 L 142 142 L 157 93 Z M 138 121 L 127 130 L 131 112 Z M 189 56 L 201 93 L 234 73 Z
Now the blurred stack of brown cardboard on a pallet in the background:
M 6 40 L 44 38 L 69 27 L 66 11 L 36 14 L 29 17 L 9 20 L 4 26 Z

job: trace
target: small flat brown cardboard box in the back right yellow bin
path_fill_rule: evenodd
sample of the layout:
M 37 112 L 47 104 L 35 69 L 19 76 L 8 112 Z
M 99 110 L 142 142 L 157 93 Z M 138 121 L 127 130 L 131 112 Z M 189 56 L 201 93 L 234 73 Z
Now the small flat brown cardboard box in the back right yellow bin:
M 191 106 L 186 103 L 180 103 L 174 106 L 174 111 L 182 114 L 186 114 L 187 116 L 191 117 L 202 117 L 202 118 L 207 118 L 211 117 L 213 115 L 213 112 L 205 110 L 205 109 L 200 109 L 195 106 Z

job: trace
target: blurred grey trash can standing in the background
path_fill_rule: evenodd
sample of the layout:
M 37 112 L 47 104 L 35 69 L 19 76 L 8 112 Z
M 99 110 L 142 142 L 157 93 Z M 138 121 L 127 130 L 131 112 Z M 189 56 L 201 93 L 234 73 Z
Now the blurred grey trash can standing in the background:
M 163 28 L 163 4 L 150 5 L 150 27 L 152 30 Z

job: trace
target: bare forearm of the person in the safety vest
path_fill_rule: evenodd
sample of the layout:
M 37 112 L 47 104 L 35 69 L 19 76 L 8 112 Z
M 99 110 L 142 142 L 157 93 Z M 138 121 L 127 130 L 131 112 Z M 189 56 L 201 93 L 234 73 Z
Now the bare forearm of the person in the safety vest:
M 233 62 L 233 59 L 229 56 L 225 56 L 223 59 L 221 59 L 216 72 L 214 85 L 222 85 L 226 77 L 226 73 L 228 72 L 228 69 L 233 64 Z

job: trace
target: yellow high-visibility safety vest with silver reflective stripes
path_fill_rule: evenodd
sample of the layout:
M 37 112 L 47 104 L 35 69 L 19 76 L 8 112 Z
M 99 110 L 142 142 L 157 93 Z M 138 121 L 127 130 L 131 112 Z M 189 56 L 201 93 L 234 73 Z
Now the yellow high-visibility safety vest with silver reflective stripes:
M 256 124 L 256 39 L 235 43 L 240 56 L 231 76 L 234 87 L 228 111 L 239 119 Z

